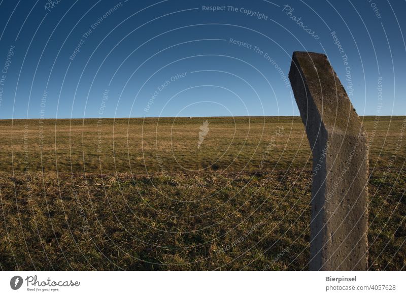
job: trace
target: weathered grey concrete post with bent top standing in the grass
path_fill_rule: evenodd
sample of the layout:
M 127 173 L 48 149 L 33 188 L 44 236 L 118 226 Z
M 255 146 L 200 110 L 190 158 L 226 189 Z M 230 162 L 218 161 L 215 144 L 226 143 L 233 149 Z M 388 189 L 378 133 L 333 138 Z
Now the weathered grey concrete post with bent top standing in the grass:
M 310 270 L 367 270 L 365 131 L 324 54 L 294 52 L 289 79 L 313 152 Z

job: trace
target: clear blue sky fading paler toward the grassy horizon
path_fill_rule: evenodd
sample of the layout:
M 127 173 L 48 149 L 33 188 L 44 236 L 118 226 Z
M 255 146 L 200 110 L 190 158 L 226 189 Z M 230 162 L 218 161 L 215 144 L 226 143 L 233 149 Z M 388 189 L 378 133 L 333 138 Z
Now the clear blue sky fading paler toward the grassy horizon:
M 326 53 L 359 115 L 405 115 L 404 1 L 286 5 L 2 0 L 0 118 L 298 115 L 296 50 Z

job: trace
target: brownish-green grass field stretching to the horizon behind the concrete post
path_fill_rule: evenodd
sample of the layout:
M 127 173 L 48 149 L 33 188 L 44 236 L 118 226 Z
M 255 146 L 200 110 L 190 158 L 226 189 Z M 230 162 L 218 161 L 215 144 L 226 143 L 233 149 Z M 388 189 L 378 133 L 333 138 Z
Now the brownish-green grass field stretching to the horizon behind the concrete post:
M 404 270 L 406 117 L 361 120 L 369 268 Z M 308 269 L 298 117 L 1 120 L 0 134 L 2 270 Z

